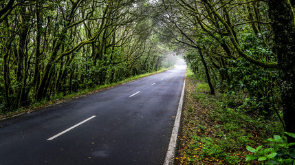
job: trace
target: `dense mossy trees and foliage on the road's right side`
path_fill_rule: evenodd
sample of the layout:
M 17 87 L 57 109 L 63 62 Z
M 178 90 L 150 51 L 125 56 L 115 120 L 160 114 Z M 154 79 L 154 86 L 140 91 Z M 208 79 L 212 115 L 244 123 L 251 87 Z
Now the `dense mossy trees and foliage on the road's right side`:
M 157 30 L 215 89 L 241 94 L 249 113 L 295 132 L 294 1 L 166 0 Z M 289 142 L 295 142 L 288 136 Z

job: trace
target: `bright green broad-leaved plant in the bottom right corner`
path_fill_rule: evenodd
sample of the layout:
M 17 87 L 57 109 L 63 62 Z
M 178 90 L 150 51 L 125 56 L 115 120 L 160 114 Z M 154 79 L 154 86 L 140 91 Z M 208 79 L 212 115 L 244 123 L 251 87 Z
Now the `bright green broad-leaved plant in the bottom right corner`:
M 285 134 L 295 138 L 295 133 Z M 246 155 L 246 160 L 258 159 L 262 164 L 295 164 L 295 148 L 289 147 L 295 144 L 288 144 L 286 136 L 274 135 L 274 138 L 267 140 L 269 141 L 267 146 L 270 146 L 270 148 L 263 148 L 263 146 L 252 148 L 247 146 L 247 150 L 253 154 Z

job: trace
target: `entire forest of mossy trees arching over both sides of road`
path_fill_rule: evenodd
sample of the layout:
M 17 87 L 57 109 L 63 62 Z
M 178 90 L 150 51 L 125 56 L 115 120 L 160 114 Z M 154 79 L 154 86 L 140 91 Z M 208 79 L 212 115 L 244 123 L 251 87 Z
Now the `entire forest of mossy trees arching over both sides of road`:
M 171 67 L 177 54 L 211 95 L 239 96 L 248 115 L 281 122 L 294 148 L 294 9 L 294 0 L 3 0 L 0 111 Z

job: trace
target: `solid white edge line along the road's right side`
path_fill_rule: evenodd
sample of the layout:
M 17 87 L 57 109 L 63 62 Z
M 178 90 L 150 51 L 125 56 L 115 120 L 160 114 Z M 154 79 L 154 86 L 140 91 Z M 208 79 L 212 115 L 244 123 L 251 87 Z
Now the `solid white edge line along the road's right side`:
M 184 89 L 186 86 L 186 80 L 184 80 L 184 87 L 182 88 L 182 96 L 179 100 L 179 105 L 177 109 L 177 114 L 173 126 L 173 131 L 171 134 L 168 150 L 166 153 L 166 158 L 163 165 L 172 165 L 174 164 L 174 157 L 175 157 L 175 149 L 176 149 L 176 143 L 177 143 L 177 135 L 179 132 L 179 126 L 180 126 L 180 120 L 182 116 L 182 104 L 184 102 Z

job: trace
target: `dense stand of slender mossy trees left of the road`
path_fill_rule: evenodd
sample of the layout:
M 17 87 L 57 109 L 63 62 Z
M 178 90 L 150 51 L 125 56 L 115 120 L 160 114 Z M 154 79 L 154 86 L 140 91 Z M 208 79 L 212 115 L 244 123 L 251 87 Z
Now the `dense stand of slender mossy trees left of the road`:
M 146 1 L 0 4 L 0 113 L 173 65 Z

